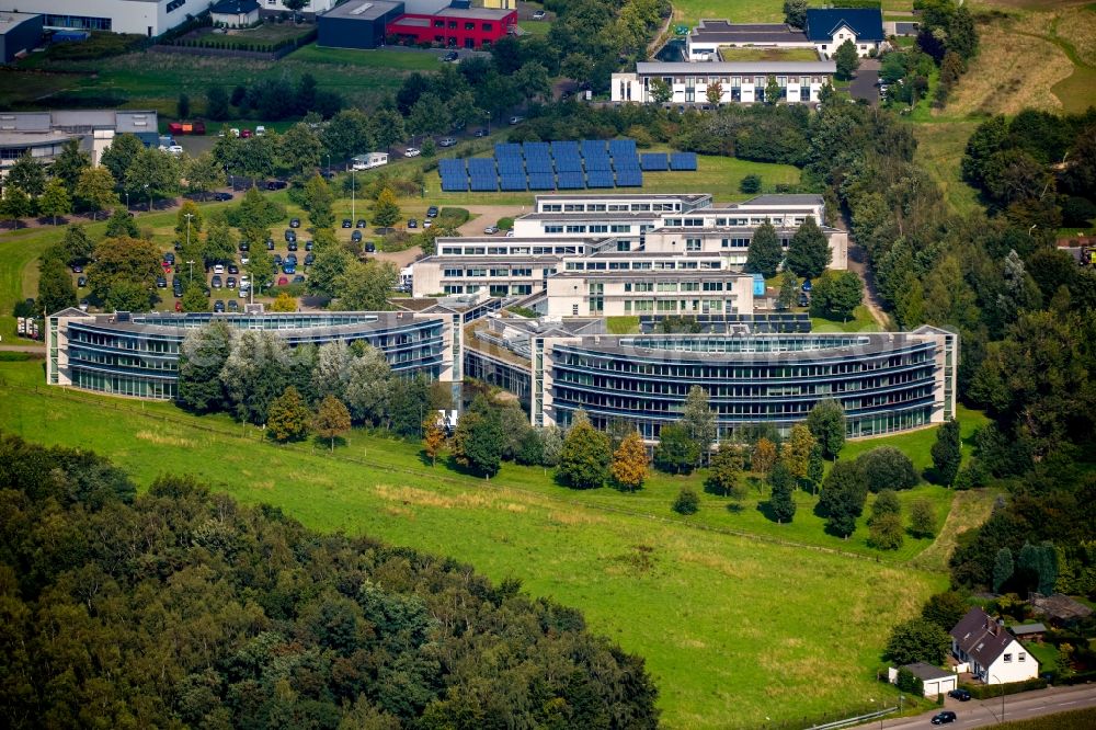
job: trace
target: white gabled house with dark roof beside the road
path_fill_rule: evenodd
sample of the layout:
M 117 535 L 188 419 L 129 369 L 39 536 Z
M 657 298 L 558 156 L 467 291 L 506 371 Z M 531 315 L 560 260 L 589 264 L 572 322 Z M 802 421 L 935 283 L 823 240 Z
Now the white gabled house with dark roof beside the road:
M 951 654 L 960 672 L 985 684 L 1008 684 L 1039 676 L 1039 662 L 1016 637 L 981 608 L 971 608 L 951 629 Z

